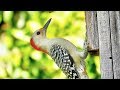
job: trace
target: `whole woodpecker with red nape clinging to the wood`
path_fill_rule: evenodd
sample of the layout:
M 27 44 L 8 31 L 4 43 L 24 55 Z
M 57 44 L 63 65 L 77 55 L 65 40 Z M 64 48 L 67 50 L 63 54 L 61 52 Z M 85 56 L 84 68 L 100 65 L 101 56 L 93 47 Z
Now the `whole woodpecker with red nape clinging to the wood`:
M 30 39 L 31 46 L 50 55 L 68 79 L 88 79 L 85 68 L 85 59 L 88 55 L 86 40 L 83 50 L 78 51 L 77 47 L 66 39 L 47 38 L 46 32 L 51 19 L 46 22 L 43 28 L 33 33 Z

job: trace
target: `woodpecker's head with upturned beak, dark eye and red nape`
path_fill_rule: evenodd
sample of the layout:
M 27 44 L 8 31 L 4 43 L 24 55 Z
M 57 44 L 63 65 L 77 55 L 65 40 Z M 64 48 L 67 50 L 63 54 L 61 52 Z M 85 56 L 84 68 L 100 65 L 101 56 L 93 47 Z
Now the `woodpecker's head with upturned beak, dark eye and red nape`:
M 36 30 L 33 35 L 32 38 L 30 39 L 30 44 L 31 46 L 39 51 L 43 51 L 45 53 L 47 53 L 47 51 L 44 49 L 44 47 L 42 47 L 42 42 L 46 39 L 46 32 L 47 32 L 47 28 L 50 24 L 52 18 L 50 18 L 46 24 L 43 26 L 43 28 Z

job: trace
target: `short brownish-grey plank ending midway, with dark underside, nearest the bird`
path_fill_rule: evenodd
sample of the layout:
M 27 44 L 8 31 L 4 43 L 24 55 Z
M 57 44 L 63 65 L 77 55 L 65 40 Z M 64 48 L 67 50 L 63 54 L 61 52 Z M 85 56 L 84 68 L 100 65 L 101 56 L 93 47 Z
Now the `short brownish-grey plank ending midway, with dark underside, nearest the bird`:
M 89 52 L 94 55 L 98 55 L 98 29 L 97 29 L 97 12 L 96 11 L 86 11 L 86 29 L 87 29 L 87 40 Z

